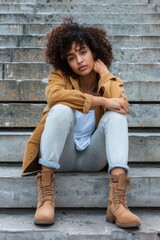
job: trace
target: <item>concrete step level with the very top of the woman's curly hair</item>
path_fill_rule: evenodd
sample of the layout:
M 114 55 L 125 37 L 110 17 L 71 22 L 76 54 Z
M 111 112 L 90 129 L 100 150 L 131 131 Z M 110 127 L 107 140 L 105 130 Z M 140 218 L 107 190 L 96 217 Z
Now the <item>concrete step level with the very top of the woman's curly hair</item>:
M 49 24 L 49 23 L 28 23 L 28 24 L 13 24 L 13 23 L 0 23 L 0 34 L 1 35 L 17 35 L 17 34 L 46 34 L 49 32 L 54 26 L 57 24 Z M 85 25 L 88 25 L 85 23 Z M 105 29 L 109 35 L 120 35 L 120 36 L 128 36 L 128 35 L 144 35 L 144 36 L 160 36 L 160 24 L 157 23 L 124 23 L 124 24 L 115 24 L 115 23 L 105 23 L 105 24 L 95 24 L 95 26 L 102 27 Z

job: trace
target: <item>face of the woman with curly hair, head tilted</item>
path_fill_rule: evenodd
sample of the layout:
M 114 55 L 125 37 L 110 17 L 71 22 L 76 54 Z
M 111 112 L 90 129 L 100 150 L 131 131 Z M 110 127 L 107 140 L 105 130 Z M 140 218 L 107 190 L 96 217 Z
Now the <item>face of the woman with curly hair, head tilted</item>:
M 94 57 L 86 44 L 79 46 L 74 42 L 68 52 L 67 62 L 72 71 L 79 76 L 86 76 L 93 71 Z

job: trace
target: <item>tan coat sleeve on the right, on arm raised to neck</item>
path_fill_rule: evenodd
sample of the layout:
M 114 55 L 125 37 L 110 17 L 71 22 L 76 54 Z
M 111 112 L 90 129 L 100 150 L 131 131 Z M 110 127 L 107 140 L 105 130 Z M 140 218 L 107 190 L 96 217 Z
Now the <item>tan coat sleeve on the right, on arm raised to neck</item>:
M 104 75 L 98 83 L 98 93 L 106 98 L 127 98 L 124 95 L 124 84 L 112 73 Z

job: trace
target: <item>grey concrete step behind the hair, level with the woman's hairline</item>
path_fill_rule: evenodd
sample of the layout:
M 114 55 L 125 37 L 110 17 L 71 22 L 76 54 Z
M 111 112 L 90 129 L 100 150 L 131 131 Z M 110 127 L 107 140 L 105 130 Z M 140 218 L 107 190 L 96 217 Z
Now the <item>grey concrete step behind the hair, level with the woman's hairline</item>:
M 115 36 L 109 35 L 114 49 L 117 48 L 158 48 L 160 36 Z M 0 35 L 0 47 L 44 47 L 45 35 Z

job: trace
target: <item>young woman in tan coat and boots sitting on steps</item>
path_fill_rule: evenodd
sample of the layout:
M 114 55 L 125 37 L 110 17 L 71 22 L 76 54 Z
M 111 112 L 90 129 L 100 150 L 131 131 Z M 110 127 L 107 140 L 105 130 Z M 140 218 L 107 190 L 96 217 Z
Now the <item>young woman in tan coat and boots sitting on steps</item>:
M 108 163 L 106 220 L 138 227 L 140 220 L 126 203 L 128 102 L 122 80 L 109 71 L 113 55 L 106 32 L 68 19 L 47 40 L 46 59 L 54 71 L 22 167 L 23 174 L 40 169 L 34 222 L 54 223 L 55 171 L 100 171 Z

